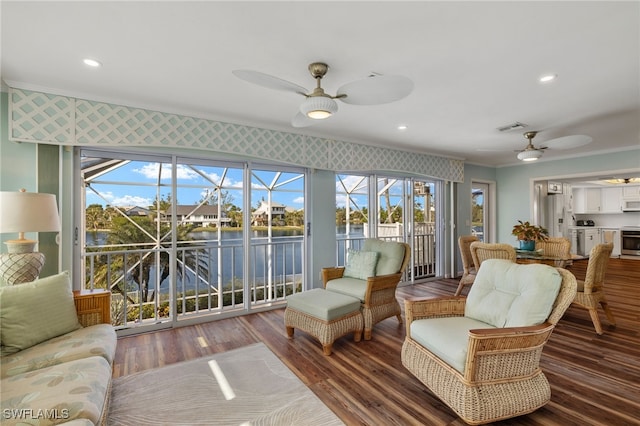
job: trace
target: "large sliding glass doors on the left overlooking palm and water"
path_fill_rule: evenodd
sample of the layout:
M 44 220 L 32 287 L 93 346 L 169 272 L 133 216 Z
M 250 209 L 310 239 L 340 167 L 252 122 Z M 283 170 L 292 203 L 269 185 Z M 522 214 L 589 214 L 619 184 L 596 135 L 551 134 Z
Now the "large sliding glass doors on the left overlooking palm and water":
M 77 242 L 117 328 L 246 312 L 300 291 L 303 170 L 81 150 Z

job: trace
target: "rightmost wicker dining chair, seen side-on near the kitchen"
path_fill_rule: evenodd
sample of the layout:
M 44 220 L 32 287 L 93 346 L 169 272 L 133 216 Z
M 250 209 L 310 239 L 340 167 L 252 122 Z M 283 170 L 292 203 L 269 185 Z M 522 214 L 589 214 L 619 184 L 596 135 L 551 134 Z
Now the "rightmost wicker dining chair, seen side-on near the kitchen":
M 591 249 L 585 279 L 584 281 L 578 281 L 578 293 L 573 301 L 574 305 L 589 310 L 591 321 L 593 321 L 598 334 L 603 332 L 600 317 L 598 316 L 598 304 L 602 306 L 609 323 L 616 325 L 616 320 L 604 295 L 604 276 L 612 250 L 613 243 L 598 244 Z

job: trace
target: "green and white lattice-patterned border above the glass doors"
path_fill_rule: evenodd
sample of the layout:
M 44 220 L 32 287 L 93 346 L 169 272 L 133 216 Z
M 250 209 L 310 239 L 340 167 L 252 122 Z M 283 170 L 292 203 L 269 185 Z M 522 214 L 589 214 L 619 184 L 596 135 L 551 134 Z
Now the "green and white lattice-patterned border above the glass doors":
M 10 90 L 9 126 L 9 138 L 22 142 L 194 148 L 334 171 L 464 177 L 461 160 L 22 89 Z

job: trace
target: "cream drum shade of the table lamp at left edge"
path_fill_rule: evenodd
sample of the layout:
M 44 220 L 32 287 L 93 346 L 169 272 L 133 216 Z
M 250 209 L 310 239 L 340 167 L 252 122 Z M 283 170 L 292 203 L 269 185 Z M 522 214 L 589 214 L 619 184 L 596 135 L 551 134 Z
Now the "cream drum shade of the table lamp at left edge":
M 0 192 L 0 233 L 58 232 L 56 196 L 34 192 Z

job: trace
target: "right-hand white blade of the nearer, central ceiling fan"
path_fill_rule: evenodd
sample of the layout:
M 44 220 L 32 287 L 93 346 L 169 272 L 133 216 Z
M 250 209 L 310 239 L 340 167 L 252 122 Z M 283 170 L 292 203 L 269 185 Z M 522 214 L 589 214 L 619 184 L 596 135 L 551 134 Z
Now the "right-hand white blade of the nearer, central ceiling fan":
M 352 105 L 379 105 L 398 101 L 411 93 L 413 81 L 399 75 L 372 75 L 338 89 L 340 100 Z

